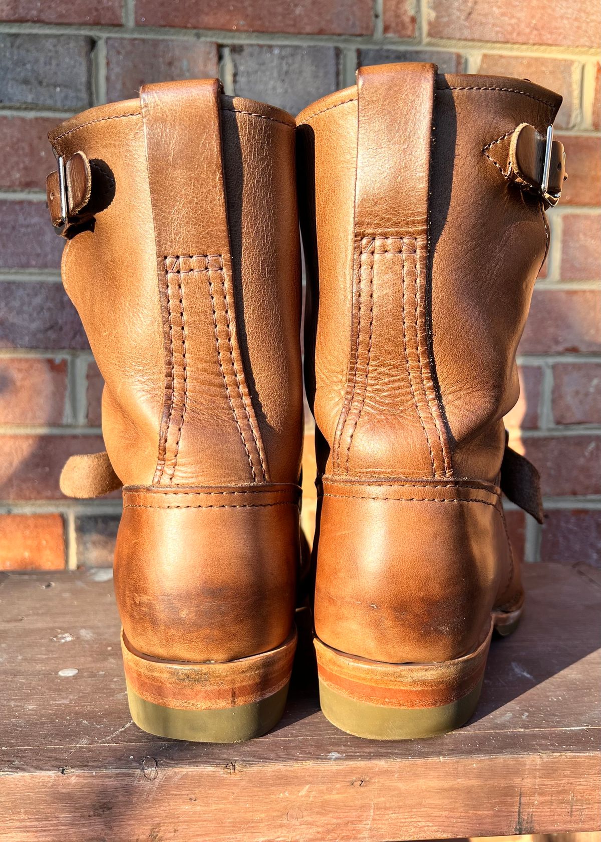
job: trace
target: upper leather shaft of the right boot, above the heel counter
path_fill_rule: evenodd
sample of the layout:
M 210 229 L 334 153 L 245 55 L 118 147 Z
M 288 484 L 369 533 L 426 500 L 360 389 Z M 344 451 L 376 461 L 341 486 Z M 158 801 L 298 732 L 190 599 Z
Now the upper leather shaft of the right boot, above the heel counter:
M 391 65 L 297 118 L 320 472 L 497 481 L 548 247 L 509 145 L 524 123 L 544 136 L 560 103 L 522 80 Z

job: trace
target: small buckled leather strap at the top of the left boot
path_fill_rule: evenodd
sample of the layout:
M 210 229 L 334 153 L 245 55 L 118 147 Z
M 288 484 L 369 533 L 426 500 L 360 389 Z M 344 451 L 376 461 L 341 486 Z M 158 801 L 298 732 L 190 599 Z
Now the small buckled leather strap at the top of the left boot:
M 46 177 L 46 199 L 52 225 L 66 236 L 69 226 L 92 217 L 88 205 L 92 196 L 92 170 L 83 152 L 66 159 L 56 155 L 57 168 Z

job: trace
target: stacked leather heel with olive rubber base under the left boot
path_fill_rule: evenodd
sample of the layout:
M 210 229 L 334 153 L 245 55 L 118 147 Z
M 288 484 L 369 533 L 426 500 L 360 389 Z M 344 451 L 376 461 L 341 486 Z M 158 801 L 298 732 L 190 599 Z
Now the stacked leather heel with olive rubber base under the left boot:
M 239 743 L 279 722 L 288 694 L 296 629 L 269 652 L 226 663 L 162 661 L 121 632 L 127 697 L 136 725 L 157 737 Z

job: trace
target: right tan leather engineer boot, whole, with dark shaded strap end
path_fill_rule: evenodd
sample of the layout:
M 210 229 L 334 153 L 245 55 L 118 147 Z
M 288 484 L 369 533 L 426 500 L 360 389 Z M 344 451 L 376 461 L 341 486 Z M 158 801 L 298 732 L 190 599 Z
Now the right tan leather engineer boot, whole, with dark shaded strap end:
M 349 733 L 459 727 L 493 627 L 519 620 L 501 488 L 539 518 L 540 492 L 503 416 L 564 179 L 560 103 L 404 64 L 297 118 L 316 651 L 322 709 Z

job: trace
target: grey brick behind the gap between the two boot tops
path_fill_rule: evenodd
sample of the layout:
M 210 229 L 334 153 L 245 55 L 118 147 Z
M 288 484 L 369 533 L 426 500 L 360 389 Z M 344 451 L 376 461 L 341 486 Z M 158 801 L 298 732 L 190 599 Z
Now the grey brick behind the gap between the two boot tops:
M 297 114 L 338 87 L 338 56 L 330 46 L 231 47 L 237 96 L 259 99 Z

